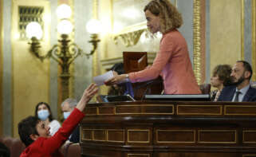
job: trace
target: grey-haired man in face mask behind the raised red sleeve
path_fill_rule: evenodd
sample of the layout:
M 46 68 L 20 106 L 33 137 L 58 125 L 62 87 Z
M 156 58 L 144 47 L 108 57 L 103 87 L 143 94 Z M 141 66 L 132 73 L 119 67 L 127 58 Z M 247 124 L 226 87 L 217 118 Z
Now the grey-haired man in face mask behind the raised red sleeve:
M 68 98 L 61 103 L 61 110 L 63 112 L 63 117 L 65 120 L 69 117 L 70 113 L 73 112 L 73 109 L 76 108 L 76 106 L 77 100 L 71 98 Z M 69 136 L 69 141 L 72 143 L 79 143 L 79 138 L 80 129 L 79 126 L 77 126 L 73 130 L 72 134 Z

